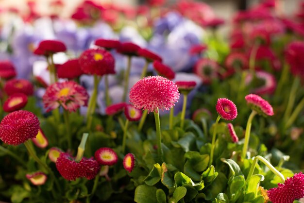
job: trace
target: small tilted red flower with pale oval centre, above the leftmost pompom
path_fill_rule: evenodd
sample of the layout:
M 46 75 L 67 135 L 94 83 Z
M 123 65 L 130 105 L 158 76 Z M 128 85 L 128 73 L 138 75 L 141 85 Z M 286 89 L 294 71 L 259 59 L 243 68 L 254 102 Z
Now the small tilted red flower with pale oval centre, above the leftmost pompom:
M 15 93 L 9 96 L 3 103 L 3 111 L 13 112 L 22 109 L 28 102 L 28 97 L 23 93 Z

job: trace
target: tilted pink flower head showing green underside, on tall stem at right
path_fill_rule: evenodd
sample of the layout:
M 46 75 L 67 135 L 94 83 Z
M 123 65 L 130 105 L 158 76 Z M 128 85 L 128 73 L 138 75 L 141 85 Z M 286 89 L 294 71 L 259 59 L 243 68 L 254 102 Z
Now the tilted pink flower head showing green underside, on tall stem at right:
M 263 116 L 273 116 L 272 106 L 256 94 L 249 94 L 245 97 L 247 104 L 258 114 Z

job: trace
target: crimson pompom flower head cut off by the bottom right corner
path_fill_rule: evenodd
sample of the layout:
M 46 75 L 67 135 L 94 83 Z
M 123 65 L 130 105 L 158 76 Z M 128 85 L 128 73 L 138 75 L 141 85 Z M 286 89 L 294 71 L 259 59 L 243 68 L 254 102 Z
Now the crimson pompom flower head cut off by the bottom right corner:
M 304 174 L 295 173 L 284 184 L 278 183 L 278 187 L 269 189 L 267 193 L 272 203 L 293 203 L 294 200 L 303 198 Z

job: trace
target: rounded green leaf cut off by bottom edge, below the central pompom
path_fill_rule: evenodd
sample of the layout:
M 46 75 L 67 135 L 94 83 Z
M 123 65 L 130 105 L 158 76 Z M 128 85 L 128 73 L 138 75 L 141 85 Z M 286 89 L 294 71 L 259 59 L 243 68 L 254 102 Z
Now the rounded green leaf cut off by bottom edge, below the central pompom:
M 134 201 L 136 203 L 157 203 L 156 187 L 140 185 L 135 189 Z

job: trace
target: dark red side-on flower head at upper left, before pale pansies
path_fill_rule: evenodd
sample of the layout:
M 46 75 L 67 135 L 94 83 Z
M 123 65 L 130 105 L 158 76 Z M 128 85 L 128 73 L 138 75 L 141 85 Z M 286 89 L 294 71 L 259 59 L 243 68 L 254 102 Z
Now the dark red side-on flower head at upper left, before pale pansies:
M 48 56 L 53 53 L 67 51 L 66 45 L 59 40 L 43 40 L 34 50 L 34 54 Z

